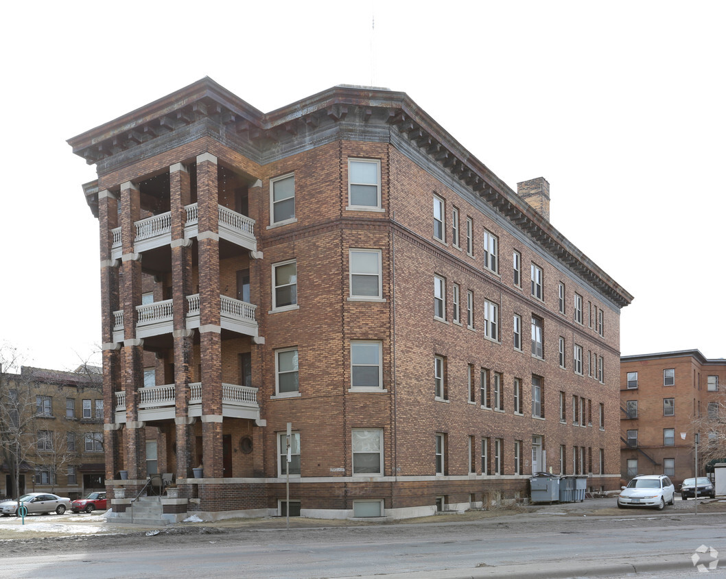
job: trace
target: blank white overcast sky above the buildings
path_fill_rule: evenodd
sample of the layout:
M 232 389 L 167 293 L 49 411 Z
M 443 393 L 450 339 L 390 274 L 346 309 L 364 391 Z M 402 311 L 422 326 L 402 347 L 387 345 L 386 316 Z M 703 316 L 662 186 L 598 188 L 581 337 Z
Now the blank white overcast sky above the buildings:
M 552 224 L 635 296 L 623 354 L 726 357 L 724 22 L 724 1 L 12 2 L 0 344 L 93 353 L 95 171 L 65 141 L 208 75 L 264 112 L 405 91 L 513 189 L 550 181 Z

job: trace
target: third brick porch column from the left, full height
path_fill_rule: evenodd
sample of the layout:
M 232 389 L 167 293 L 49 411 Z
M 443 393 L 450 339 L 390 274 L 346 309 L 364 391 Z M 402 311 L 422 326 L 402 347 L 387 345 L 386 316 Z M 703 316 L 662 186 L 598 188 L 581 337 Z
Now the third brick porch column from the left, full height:
M 176 477 L 191 475 L 194 435 L 189 419 L 189 382 L 192 374 L 192 331 L 187 330 L 187 296 L 192 295 L 192 241 L 184 239 L 186 205 L 192 200 L 187 168 L 169 168 L 171 187 L 171 287 L 174 299 L 174 393 L 176 397 Z

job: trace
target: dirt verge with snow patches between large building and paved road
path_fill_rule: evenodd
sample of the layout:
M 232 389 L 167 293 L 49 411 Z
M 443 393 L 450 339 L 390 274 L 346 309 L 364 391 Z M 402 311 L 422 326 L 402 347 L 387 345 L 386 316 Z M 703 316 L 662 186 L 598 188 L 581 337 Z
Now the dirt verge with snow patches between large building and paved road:
M 381 532 L 395 534 L 396 525 L 423 525 L 430 523 L 476 524 L 487 521 L 492 525 L 508 527 L 531 522 L 532 525 L 547 527 L 558 522 L 572 525 L 574 517 L 586 521 L 585 517 L 617 517 L 635 523 L 651 521 L 652 517 L 666 519 L 679 518 L 682 514 L 695 514 L 696 501 L 681 501 L 677 498 L 673 506 L 666 506 L 662 512 L 653 509 L 618 509 L 615 498 L 587 499 L 582 503 L 537 504 L 528 506 L 507 506 L 487 511 L 468 511 L 461 514 L 446 513 L 431 517 L 397 520 L 391 522 L 365 522 L 348 520 L 321 520 L 293 517 L 290 529 L 319 530 L 320 538 L 346 533 L 354 533 L 355 527 L 378 525 Z M 698 501 L 699 514 L 725 513 L 726 500 Z M 541 524 L 541 525 L 540 525 Z M 648 523 L 650 524 L 650 523 Z M 17 517 L 0 518 L 0 558 L 18 557 L 30 554 L 52 554 L 57 549 L 63 552 L 96 551 L 107 549 L 149 549 L 184 548 L 200 543 L 220 543 L 240 541 L 250 537 L 250 532 L 284 530 L 285 517 L 264 517 L 258 519 L 228 519 L 214 522 L 181 522 L 166 527 L 143 527 L 140 525 L 118 525 L 108 522 L 102 515 L 62 515 L 55 514 L 26 517 L 23 528 Z M 390 528 L 387 528 L 390 527 Z M 336 531 L 336 529 L 338 529 Z M 363 529 L 360 529 L 363 530 Z M 283 533 L 287 535 L 287 533 Z M 309 536 L 309 533 L 306 533 Z M 255 536 L 256 539 L 259 535 Z M 265 541 L 282 540 L 280 533 L 266 533 Z M 287 535 L 289 537 L 289 535 Z

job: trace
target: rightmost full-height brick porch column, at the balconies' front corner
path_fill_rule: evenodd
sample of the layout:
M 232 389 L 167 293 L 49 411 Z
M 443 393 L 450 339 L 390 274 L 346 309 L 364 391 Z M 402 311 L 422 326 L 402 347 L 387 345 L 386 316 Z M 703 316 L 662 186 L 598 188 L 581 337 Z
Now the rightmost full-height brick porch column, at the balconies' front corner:
M 217 159 L 210 153 L 197 157 L 199 208 L 200 353 L 202 362 L 202 453 L 204 476 L 221 477 L 222 373 L 219 316 L 219 194 Z

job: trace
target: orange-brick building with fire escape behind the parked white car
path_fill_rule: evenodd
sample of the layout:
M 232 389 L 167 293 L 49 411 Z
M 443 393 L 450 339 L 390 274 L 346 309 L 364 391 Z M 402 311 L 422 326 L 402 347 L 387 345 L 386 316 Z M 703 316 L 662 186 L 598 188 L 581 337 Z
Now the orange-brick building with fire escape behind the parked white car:
M 722 456 L 722 427 L 712 420 L 723 414 L 726 359 L 709 360 L 698 350 L 680 350 L 620 358 L 621 472 L 672 477 L 679 485 L 693 477 L 698 444 L 699 476 L 704 465 Z M 682 434 L 685 433 L 685 438 Z M 714 438 L 715 437 L 715 438 Z M 714 452 L 715 451 L 715 452 Z

